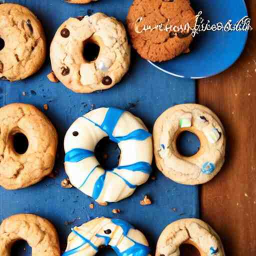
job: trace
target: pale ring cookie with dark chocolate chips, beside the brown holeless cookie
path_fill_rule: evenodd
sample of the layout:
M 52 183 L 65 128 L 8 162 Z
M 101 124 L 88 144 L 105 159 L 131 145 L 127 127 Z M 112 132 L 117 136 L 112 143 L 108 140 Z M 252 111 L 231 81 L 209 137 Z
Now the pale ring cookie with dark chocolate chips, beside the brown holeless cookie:
M 99 12 L 69 18 L 52 40 L 50 59 L 56 77 L 69 89 L 80 93 L 108 89 L 129 68 L 125 28 Z

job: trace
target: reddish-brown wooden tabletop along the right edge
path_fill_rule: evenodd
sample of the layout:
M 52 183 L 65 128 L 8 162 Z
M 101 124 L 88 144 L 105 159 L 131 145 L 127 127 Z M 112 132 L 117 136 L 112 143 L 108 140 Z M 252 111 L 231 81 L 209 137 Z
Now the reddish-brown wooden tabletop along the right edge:
M 256 255 L 256 2 L 246 4 L 254 30 L 242 56 L 197 86 L 198 102 L 220 117 L 227 136 L 222 170 L 201 187 L 201 218 L 221 236 L 228 256 Z

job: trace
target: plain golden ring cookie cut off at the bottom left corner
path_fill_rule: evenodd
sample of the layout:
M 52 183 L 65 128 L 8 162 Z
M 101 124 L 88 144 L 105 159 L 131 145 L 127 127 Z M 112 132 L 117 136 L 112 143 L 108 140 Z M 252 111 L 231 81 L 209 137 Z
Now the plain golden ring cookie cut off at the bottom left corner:
M 55 227 L 45 218 L 33 214 L 16 214 L 0 225 L 0 255 L 10 256 L 12 244 L 25 240 L 32 247 L 32 256 L 60 256 Z

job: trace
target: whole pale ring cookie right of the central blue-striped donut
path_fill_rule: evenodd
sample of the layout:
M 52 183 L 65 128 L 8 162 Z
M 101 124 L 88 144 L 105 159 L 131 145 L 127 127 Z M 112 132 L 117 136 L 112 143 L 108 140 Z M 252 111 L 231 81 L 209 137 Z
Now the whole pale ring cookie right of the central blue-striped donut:
M 181 155 L 176 147 L 183 131 L 194 133 L 200 140 L 200 149 L 189 157 Z M 202 105 L 181 104 L 168 108 L 154 123 L 153 140 L 158 169 L 178 183 L 205 183 L 224 163 L 224 128 L 218 117 Z

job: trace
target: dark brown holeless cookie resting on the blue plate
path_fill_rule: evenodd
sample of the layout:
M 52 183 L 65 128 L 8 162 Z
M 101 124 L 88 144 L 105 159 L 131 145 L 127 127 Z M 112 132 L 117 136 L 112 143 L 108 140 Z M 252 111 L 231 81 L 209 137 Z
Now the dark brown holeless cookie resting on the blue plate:
M 189 27 L 195 23 L 189 0 L 134 0 L 126 21 L 132 46 L 145 59 L 164 61 L 189 51 Z M 162 27 L 143 31 L 143 27 L 160 24 Z M 183 30 L 177 31 L 180 25 Z

